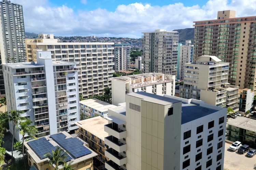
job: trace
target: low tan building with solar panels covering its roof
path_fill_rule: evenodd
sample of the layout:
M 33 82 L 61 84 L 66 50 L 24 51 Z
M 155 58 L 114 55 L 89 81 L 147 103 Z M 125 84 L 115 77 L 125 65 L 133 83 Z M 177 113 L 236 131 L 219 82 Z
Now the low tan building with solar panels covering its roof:
M 52 153 L 52 151 L 55 151 L 56 147 L 60 147 L 66 152 L 67 158 L 65 162 L 70 163 L 72 169 L 92 170 L 93 157 L 98 154 L 89 149 L 86 145 L 88 145 L 88 143 L 78 137 L 72 137 L 67 132 L 60 132 L 41 137 L 38 140 L 34 139 L 24 142 L 28 153 L 28 165 L 38 170 L 54 170 L 55 165 L 49 165 L 49 158 L 45 158 L 44 154 Z M 62 169 L 63 165 L 59 165 L 58 168 Z

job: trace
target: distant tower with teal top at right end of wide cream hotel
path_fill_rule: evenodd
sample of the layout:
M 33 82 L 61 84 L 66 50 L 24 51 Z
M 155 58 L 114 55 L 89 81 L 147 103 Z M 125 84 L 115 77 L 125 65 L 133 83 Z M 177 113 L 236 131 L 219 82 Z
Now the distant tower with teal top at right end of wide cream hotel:
M 114 70 L 127 70 L 130 68 L 130 44 L 116 43 L 114 44 Z

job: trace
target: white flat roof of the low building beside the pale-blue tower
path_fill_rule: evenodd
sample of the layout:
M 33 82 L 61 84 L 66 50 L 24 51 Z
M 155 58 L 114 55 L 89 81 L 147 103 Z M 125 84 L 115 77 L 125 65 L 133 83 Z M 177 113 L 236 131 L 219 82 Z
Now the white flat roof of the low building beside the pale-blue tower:
M 109 108 L 117 107 L 113 104 L 109 104 L 98 99 L 86 99 L 86 100 L 80 101 L 79 103 L 86 105 L 88 107 L 94 108 L 100 112 L 106 112 L 108 111 Z

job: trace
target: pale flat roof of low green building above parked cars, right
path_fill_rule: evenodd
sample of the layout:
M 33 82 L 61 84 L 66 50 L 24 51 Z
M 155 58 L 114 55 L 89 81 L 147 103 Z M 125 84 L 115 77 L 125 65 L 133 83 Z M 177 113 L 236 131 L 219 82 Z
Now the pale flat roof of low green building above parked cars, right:
M 238 116 L 237 118 L 229 118 L 227 124 L 232 126 L 237 126 L 242 129 L 256 132 L 256 120 L 249 119 L 243 116 Z

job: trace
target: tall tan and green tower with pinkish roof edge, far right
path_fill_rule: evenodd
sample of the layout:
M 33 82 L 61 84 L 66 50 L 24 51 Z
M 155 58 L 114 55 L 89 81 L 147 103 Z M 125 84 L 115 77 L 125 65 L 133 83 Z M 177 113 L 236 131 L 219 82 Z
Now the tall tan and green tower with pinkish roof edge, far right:
M 236 18 L 235 11 L 219 11 L 217 19 L 194 23 L 194 58 L 217 56 L 229 63 L 231 85 L 255 91 L 256 16 Z

